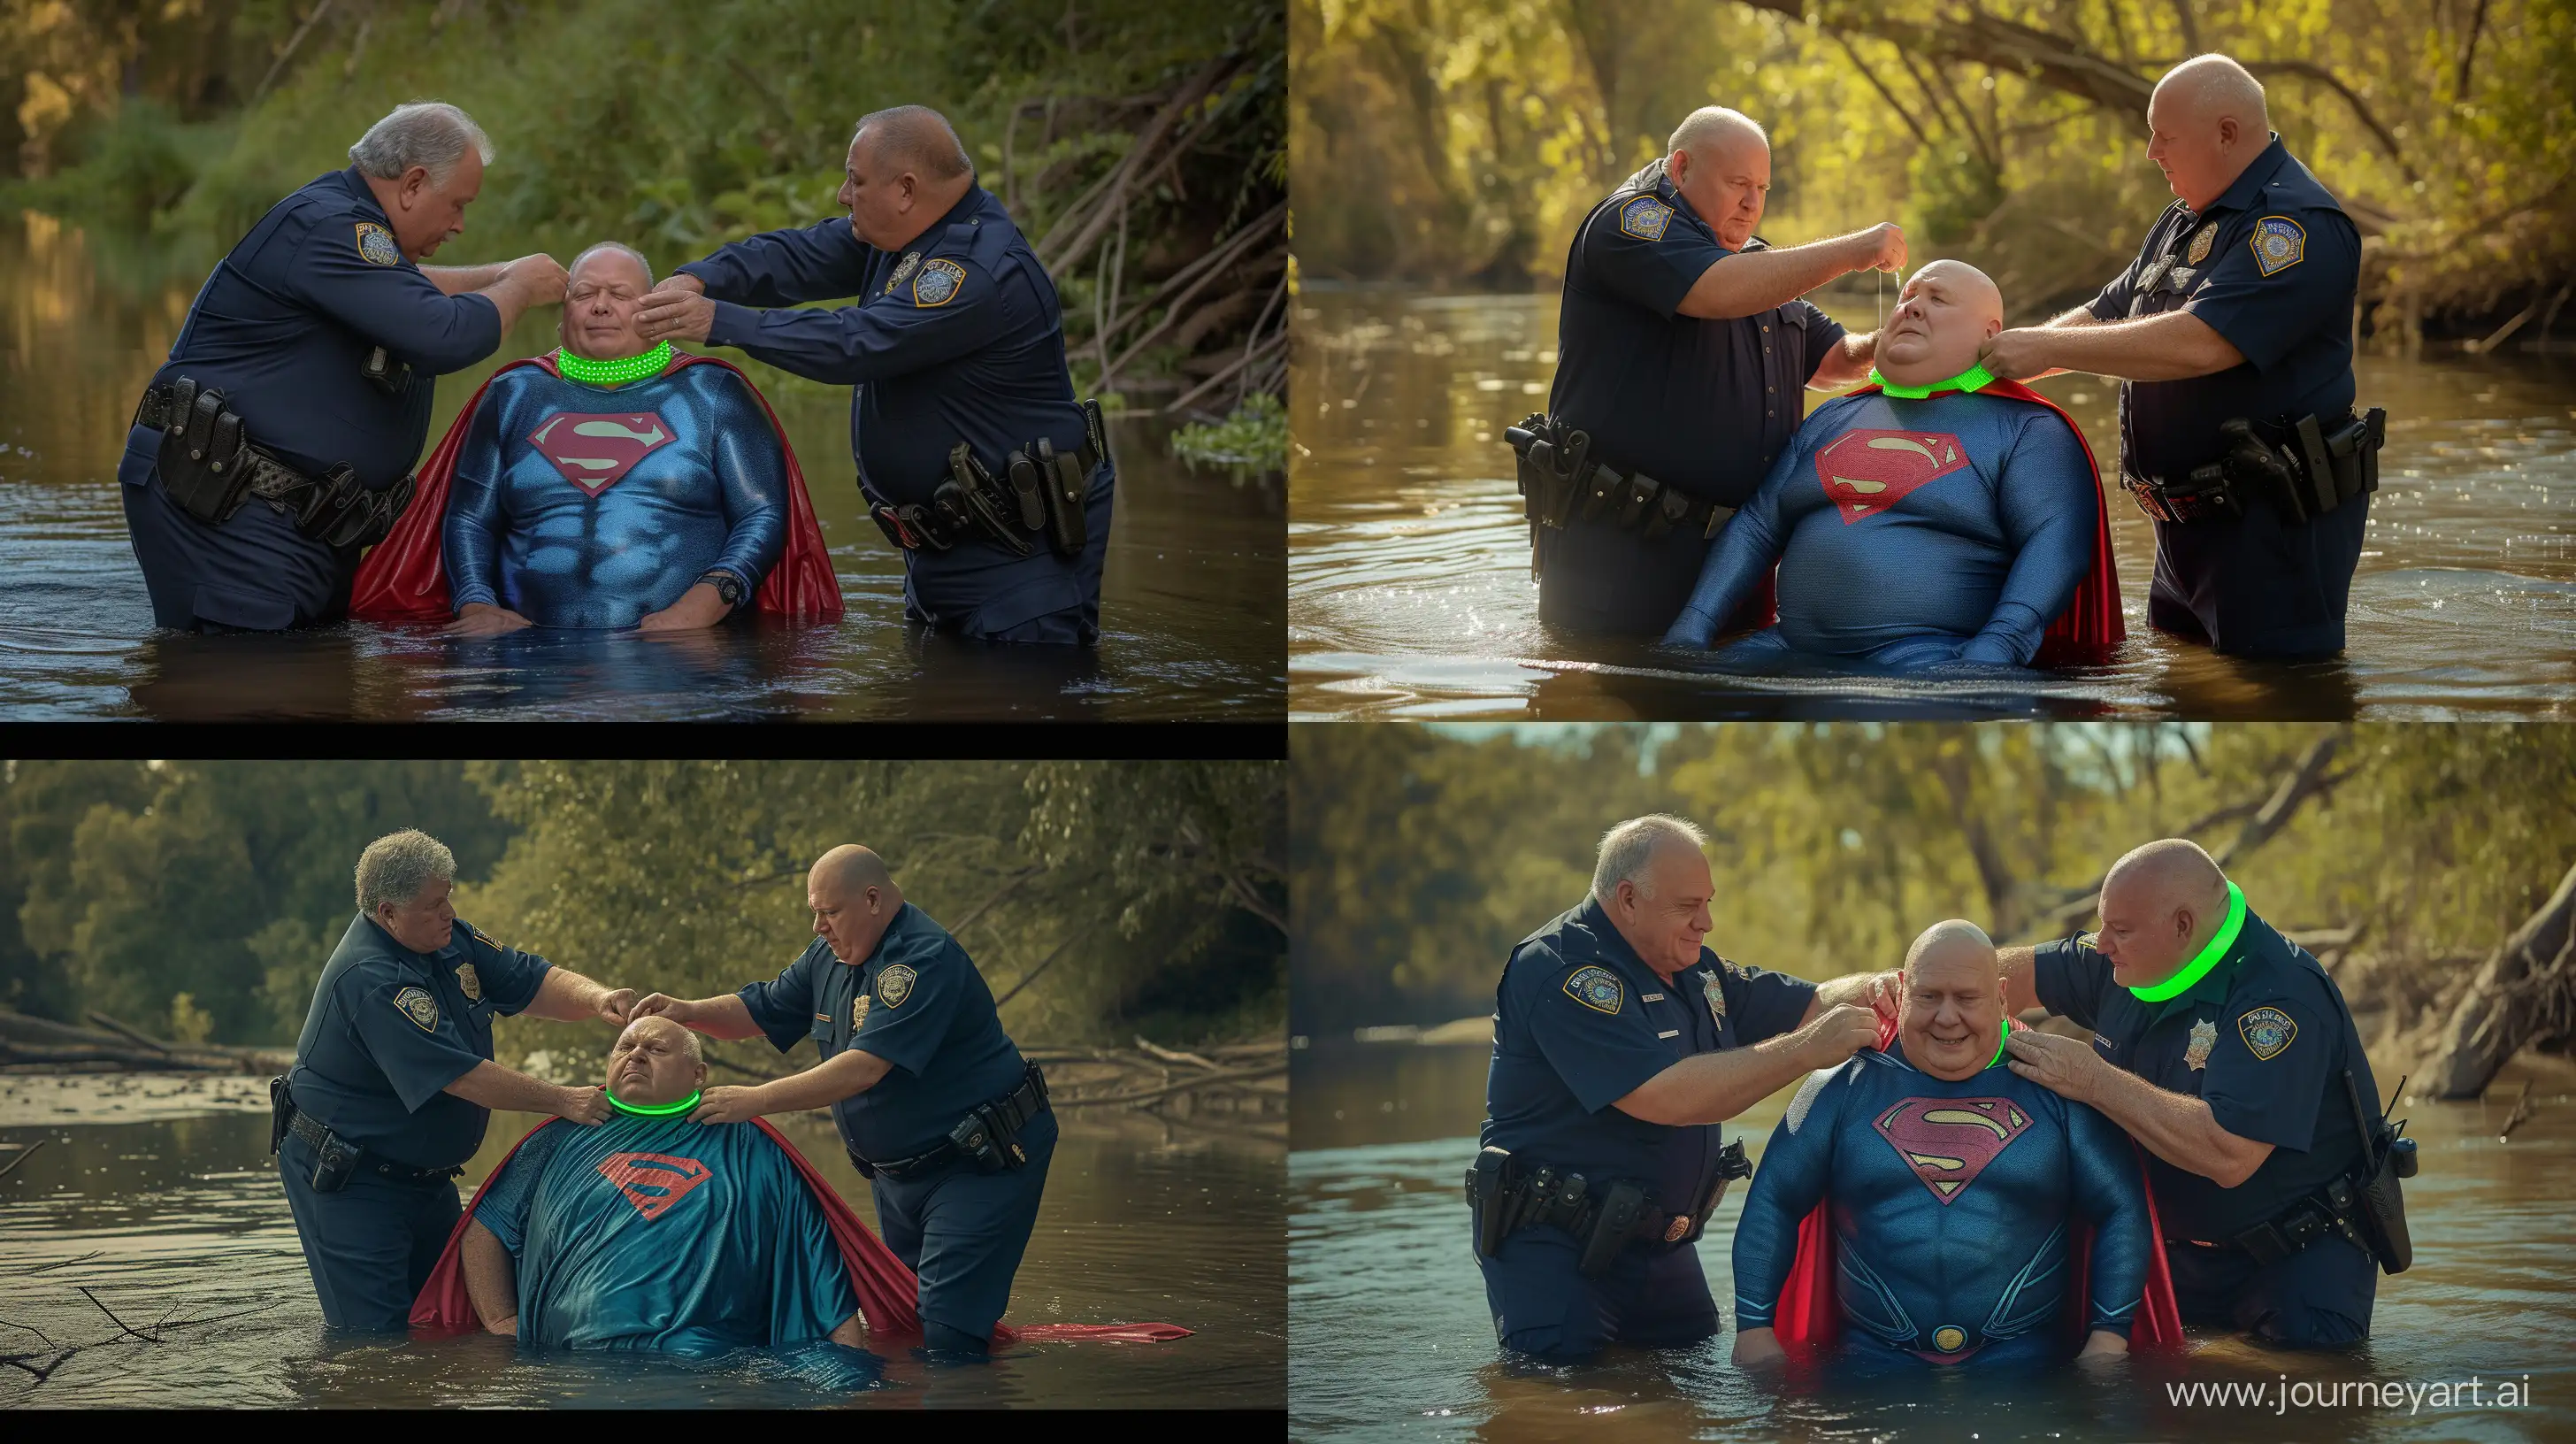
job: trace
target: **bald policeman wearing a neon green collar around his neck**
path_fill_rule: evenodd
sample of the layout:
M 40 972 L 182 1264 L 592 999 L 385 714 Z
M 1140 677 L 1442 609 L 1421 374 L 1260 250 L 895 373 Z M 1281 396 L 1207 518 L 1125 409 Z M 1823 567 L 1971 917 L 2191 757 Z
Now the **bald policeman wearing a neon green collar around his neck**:
M 2354 1178 L 2385 1129 L 2326 970 L 2179 838 L 2112 864 L 2099 933 L 2002 959 L 2009 1008 L 2094 1031 L 2087 1047 L 2020 1029 L 2012 1070 L 2146 1147 L 2182 1323 L 2290 1349 L 2365 1338 L 2385 1243 Z

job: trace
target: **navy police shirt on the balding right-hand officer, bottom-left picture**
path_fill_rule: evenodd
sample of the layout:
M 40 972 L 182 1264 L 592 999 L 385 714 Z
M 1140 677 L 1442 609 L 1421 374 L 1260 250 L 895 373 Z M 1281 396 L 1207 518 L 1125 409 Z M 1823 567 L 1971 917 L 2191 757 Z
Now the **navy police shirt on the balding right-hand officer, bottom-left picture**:
M 855 1047 L 891 1065 L 866 1093 L 832 1104 L 842 1142 L 871 1163 L 930 1153 L 1025 1070 L 974 959 L 912 903 L 863 964 L 814 939 L 786 972 L 737 995 L 778 1052 L 814 1039 L 824 1062 Z

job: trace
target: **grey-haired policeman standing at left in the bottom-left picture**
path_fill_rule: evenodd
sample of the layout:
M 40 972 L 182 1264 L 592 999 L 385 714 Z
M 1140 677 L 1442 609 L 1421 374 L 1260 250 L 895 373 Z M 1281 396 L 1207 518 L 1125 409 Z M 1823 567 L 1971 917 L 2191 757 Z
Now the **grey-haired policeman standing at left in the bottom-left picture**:
M 626 1024 L 634 990 L 505 949 L 456 918 L 456 854 L 392 833 L 358 854 L 358 915 L 322 967 L 270 1150 L 332 1328 L 402 1328 L 456 1230 L 456 1184 L 492 1109 L 608 1117 L 598 1088 L 492 1062 L 492 1019 Z

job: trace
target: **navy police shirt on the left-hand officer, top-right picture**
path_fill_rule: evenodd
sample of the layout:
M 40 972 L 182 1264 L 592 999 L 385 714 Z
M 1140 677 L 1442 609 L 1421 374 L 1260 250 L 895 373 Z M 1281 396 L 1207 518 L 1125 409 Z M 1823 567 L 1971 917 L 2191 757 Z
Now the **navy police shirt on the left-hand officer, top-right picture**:
M 1806 418 L 1806 382 L 1842 325 L 1806 299 L 1736 320 L 1680 315 L 1726 255 L 1662 160 L 1595 206 L 1566 255 L 1548 413 L 1589 431 L 1592 456 L 1620 472 L 1744 505 Z

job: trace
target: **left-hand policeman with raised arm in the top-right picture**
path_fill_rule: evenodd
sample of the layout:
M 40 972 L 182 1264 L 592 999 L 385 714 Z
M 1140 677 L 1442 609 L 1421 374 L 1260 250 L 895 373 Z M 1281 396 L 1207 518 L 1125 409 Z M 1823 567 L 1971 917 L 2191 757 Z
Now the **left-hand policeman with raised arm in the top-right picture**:
M 1754 237 L 1767 191 L 1762 126 L 1705 106 L 1574 227 L 1551 415 L 1512 436 L 1540 621 L 1662 634 L 1806 418 L 1801 387 L 1868 376 L 1878 338 L 1844 335 L 1798 297 L 1901 268 L 1904 232 L 1772 250 Z M 1530 433 L 1551 436 L 1535 469 Z

